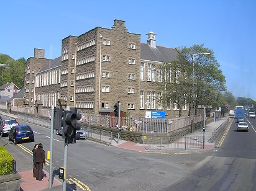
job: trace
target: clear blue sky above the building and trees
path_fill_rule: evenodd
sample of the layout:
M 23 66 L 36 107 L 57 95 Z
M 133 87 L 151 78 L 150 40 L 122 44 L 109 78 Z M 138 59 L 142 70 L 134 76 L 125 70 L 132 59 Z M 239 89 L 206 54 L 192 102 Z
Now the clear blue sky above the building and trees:
M 111 29 L 115 19 L 141 34 L 157 33 L 158 46 L 203 44 L 214 51 L 227 91 L 256 100 L 255 0 L 8 0 L 1 2 L 0 53 L 14 60 L 61 55 L 62 39 L 95 27 Z

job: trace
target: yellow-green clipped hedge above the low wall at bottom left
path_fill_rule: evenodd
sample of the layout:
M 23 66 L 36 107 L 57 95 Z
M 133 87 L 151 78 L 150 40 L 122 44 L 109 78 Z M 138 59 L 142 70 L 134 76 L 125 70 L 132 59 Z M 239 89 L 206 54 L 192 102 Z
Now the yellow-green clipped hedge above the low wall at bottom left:
M 8 153 L 4 146 L 0 146 L 0 175 L 12 174 L 13 156 Z

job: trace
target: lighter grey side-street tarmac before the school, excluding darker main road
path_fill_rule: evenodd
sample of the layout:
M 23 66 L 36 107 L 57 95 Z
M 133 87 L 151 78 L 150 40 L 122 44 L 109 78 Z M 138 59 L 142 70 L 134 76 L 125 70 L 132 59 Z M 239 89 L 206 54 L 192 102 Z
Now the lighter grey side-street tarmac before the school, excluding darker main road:
M 35 132 L 34 143 L 14 145 L 7 137 L 0 139 L 16 159 L 18 172 L 32 169 L 31 150 L 35 143 L 42 143 L 45 151 L 50 149 L 49 128 L 28 124 Z M 53 138 L 53 167 L 57 170 L 63 166 L 64 141 L 58 135 Z M 76 190 L 163 190 L 207 155 L 140 153 L 80 140 L 68 146 L 66 179 L 68 184 L 76 184 Z M 44 169 L 49 172 L 49 166 Z

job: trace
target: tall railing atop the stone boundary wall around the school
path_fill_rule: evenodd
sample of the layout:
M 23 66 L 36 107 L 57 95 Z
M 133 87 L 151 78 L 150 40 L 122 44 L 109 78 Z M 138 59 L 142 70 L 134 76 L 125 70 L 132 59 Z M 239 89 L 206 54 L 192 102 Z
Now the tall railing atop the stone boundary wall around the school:
M 34 114 L 34 107 L 14 107 L 12 106 L 12 111 L 19 113 Z M 50 110 L 43 109 L 40 110 L 40 116 L 45 118 L 49 117 Z M 19 115 L 22 119 L 22 115 Z M 47 122 L 45 118 L 35 118 L 31 115 L 26 116 L 30 122 L 39 121 L 40 125 L 49 126 L 50 123 Z M 25 119 L 24 119 L 25 120 Z M 99 115 L 92 113 L 81 113 L 81 123 L 90 123 L 91 125 L 98 125 L 102 127 L 115 128 L 117 124 L 117 117 L 110 115 Z M 180 118 L 129 118 L 121 117 L 121 128 L 123 130 L 142 132 L 142 133 L 169 133 L 171 131 L 178 130 L 180 128 L 188 127 L 192 123 L 198 123 L 203 121 L 203 115 L 195 115 L 194 117 L 180 117 Z M 48 123 L 48 124 L 47 124 Z

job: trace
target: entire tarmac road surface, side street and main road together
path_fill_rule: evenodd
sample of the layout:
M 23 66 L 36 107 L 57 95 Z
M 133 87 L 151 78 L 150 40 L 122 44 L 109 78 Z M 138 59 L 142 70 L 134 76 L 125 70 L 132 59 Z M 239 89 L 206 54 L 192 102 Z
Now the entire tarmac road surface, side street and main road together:
M 202 153 L 142 153 L 80 140 L 68 146 L 67 182 L 76 190 L 256 190 L 256 119 L 248 122 L 248 133 L 237 132 L 233 122 L 219 148 Z M 50 130 L 29 125 L 35 143 L 48 151 Z M 53 138 L 53 167 L 58 169 L 64 142 L 61 136 Z M 35 143 L 0 140 L 16 159 L 18 172 L 32 169 Z M 49 166 L 44 169 L 49 172 Z

